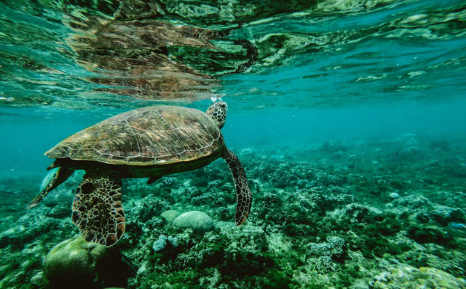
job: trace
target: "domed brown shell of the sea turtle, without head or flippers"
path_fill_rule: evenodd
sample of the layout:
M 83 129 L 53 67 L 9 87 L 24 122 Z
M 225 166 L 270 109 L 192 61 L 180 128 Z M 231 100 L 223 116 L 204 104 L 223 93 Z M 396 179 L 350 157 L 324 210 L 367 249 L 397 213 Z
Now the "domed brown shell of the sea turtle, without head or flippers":
M 67 137 L 51 158 L 150 166 L 188 162 L 223 150 L 214 120 L 197 109 L 156 106 L 127 111 Z

